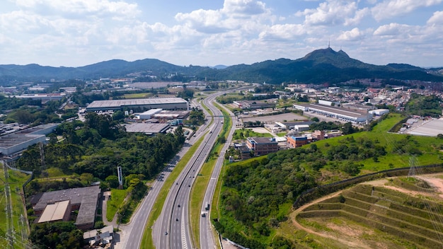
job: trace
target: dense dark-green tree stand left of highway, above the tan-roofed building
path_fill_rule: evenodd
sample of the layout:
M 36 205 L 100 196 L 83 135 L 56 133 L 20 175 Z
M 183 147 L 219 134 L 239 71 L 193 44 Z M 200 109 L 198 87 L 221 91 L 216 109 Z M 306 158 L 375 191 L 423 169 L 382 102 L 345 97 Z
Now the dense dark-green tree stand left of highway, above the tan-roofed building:
M 63 141 L 57 143 L 57 137 Z M 174 134 L 146 137 L 144 134 L 125 132 L 120 124 L 108 115 L 90 112 L 86 121 L 65 122 L 57 127 L 45 145 L 47 168 L 56 167 L 65 173 L 91 173 L 105 180 L 116 174 L 122 166 L 125 175 L 143 174 L 152 178 L 176 154 L 185 141 L 181 127 Z M 17 166 L 41 173 L 40 148 L 30 146 L 18 159 Z

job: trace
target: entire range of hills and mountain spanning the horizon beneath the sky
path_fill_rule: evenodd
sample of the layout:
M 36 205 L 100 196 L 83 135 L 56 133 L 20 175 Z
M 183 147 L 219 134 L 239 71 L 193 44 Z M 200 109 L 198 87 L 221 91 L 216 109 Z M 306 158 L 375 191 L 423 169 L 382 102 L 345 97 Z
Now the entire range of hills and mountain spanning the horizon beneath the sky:
M 440 71 L 440 73 L 438 73 Z M 241 80 L 246 82 L 303 82 L 339 83 L 351 79 L 399 79 L 442 82 L 440 69 L 422 69 L 409 64 L 377 66 L 350 58 L 343 50 L 331 48 L 315 50 L 300 59 L 276 59 L 251 65 L 234 66 L 176 66 L 158 59 L 127 62 L 113 59 L 80 67 L 52 67 L 38 64 L 0 65 L 0 82 L 42 81 L 63 79 L 100 79 L 127 76 L 157 76 L 167 79 L 171 75 L 191 80 Z

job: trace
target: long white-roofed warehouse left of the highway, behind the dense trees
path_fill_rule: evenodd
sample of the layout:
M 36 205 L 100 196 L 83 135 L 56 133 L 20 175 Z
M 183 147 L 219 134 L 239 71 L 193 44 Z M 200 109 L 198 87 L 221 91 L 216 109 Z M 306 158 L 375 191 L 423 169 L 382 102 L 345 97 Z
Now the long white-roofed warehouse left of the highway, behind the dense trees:
M 188 110 L 188 101 L 183 98 L 134 98 L 127 100 L 96 100 L 86 107 L 86 112 L 105 112 L 131 108 L 149 110 L 161 108 L 164 110 Z

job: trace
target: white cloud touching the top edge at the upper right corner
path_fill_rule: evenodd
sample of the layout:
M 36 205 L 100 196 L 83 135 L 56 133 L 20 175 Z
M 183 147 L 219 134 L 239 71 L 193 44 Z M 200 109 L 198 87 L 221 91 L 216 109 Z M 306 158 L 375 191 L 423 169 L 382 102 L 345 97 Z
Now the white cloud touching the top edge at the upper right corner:
M 416 8 L 441 4 L 443 0 L 385 0 L 376 4 L 371 11 L 376 21 L 410 13 Z

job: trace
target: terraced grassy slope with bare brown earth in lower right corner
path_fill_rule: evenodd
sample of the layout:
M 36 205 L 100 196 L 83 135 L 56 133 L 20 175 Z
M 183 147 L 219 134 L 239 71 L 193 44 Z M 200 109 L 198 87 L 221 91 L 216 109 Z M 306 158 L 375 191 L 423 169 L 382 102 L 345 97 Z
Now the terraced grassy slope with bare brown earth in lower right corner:
M 443 248 L 438 185 L 441 175 L 360 184 L 302 207 L 295 222 L 327 248 Z

